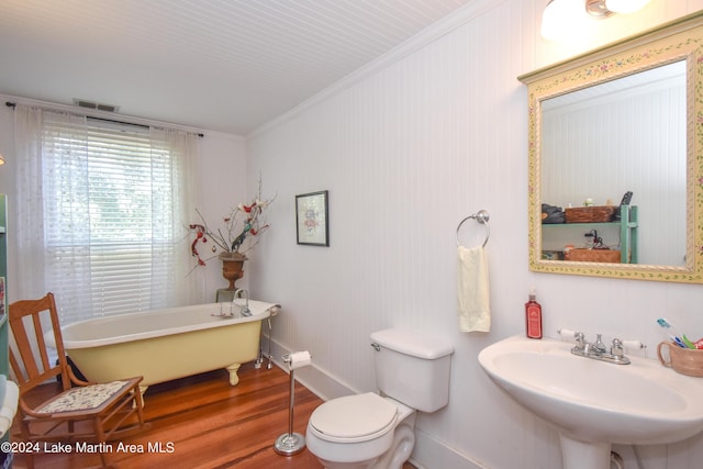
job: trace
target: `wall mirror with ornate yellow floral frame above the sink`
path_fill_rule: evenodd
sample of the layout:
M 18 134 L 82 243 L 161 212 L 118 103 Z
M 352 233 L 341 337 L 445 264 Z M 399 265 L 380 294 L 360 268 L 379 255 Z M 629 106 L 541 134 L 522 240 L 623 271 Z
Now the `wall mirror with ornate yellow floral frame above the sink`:
M 531 270 L 703 283 L 703 12 L 518 79 Z

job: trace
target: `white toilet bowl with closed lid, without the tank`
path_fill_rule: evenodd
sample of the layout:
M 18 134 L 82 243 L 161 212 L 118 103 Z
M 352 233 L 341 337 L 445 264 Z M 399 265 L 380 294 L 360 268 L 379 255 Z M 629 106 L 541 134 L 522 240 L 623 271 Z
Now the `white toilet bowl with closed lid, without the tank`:
M 326 469 L 400 469 L 415 443 L 415 411 L 372 392 L 325 402 L 305 443 Z

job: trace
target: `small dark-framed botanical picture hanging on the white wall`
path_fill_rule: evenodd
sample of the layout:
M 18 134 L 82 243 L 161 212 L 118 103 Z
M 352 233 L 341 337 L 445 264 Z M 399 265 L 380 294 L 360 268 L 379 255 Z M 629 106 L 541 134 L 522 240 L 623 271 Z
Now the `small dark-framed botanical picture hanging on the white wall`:
M 295 196 L 297 242 L 330 246 L 330 209 L 326 190 Z

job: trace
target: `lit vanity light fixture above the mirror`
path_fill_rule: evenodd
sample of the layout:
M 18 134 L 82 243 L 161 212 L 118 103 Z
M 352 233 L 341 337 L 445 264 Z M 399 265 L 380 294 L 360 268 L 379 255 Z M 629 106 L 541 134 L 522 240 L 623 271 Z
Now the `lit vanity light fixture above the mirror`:
M 605 19 L 615 13 L 634 13 L 648 2 L 649 0 L 549 0 L 542 14 L 542 36 L 557 41 L 567 34 L 573 34 L 584 16 Z

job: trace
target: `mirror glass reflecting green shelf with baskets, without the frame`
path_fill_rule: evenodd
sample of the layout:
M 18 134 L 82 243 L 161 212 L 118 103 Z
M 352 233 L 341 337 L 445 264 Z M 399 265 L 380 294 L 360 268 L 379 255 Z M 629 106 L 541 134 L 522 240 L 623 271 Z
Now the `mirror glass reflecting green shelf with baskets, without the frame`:
M 679 60 L 542 101 L 543 259 L 685 265 L 685 72 Z M 612 253 L 581 250 L 594 247 Z

